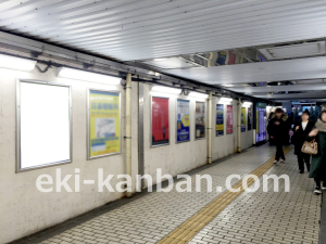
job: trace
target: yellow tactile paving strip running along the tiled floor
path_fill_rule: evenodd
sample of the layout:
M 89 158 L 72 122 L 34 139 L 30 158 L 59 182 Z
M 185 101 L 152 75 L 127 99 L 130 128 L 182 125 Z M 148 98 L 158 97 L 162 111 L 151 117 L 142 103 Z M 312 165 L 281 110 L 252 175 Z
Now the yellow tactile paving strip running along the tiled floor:
M 286 147 L 284 153 L 287 154 L 292 147 Z M 258 167 L 249 175 L 255 175 L 256 177 L 262 177 L 274 164 L 275 157 L 272 157 L 266 163 Z M 250 178 L 248 181 L 248 187 L 254 183 L 254 180 Z M 240 188 L 239 192 L 226 191 L 202 209 L 200 209 L 196 215 L 189 218 L 187 221 L 181 223 L 174 231 L 170 232 L 164 239 L 158 242 L 158 244 L 184 244 L 189 242 L 204 226 L 206 226 L 211 220 L 213 220 L 227 205 L 229 205 L 234 200 L 236 200 L 241 193 L 244 192 L 242 187 L 242 179 L 233 185 L 234 189 Z

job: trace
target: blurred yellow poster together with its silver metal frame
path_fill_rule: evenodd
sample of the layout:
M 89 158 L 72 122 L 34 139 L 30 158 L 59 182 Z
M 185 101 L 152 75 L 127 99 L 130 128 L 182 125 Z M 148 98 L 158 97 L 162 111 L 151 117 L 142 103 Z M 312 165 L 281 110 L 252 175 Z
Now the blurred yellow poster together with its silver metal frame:
M 91 102 L 91 100 L 96 100 Z M 113 100 L 112 103 L 105 103 L 103 101 Z M 121 140 L 121 91 L 116 90 L 101 90 L 91 89 L 87 91 L 87 159 L 93 159 L 99 157 L 105 157 L 122 153 L 122 140 Z M 102 112 L 104 111 L 104 112 Z M 111 112 L 109 112 L 111 111 Z M 93 119 L 95 120 L 93 120 Z M 105 138 L 96 138 L 93 134 L 97 131 L 96 123 L 104 121 L 104 119 L 114 121 L 114 134 L 105 136 Z M 118 120 L 116 123 L 116 120 Z M 112 129 L 112 126 L 104 125 L 106 129 Z M 98 131 L 100 132 L 100 131 Z M 104 131 L 105 132 L 105 131 Z M 103 131 L 102 131 L 103 133 Z M 106 150 L 108 144 L 112 144 L 115 150 Z M 105 149 L 103 149 L 103 146 Z M 98 152 L 92 150 L 97 149 Z M 100 150 L 99 150 L 100 149 Z

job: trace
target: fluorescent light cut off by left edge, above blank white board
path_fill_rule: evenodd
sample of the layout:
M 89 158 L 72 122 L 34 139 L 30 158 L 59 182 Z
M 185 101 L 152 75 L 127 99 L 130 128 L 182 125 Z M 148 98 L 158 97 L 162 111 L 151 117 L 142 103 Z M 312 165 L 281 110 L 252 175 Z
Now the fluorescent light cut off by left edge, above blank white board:
M 36 63 L 33 60 L 0 54 L 0 67 L 2 68 L 32 72 Z

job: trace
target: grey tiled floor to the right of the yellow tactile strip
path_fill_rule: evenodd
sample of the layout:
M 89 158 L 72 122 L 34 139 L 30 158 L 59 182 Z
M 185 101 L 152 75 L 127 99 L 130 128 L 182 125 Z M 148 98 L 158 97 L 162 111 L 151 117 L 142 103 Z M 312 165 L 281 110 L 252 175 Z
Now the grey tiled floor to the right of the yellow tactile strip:
M 298 174 L 296 156 L 275 166 L 266 175 L 288 175 L 290 192 L 268 192 L 261 187 L 255 193 L 241 194 L 192 240 L 195 243 L 318 243 L 321 196 L 312 194 L 313 180 Z M 281 181 L 284 182 L 284 181 Z

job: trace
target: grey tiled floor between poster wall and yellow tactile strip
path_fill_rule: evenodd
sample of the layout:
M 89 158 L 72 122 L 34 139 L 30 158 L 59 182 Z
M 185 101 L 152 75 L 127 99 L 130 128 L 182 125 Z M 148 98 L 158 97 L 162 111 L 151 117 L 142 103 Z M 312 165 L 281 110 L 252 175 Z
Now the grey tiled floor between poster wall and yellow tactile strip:
M 254 147 L 200 171 L 213 177 L 213 189 L 223 187 L 231 174 L 249 174 L 274 155 L 267 145 Z M 195 176 L 191 177 L 195 179 Z M 221 193 L 151 193 L 97 217 L 42 243 L 155 243 L 177 228 Z

